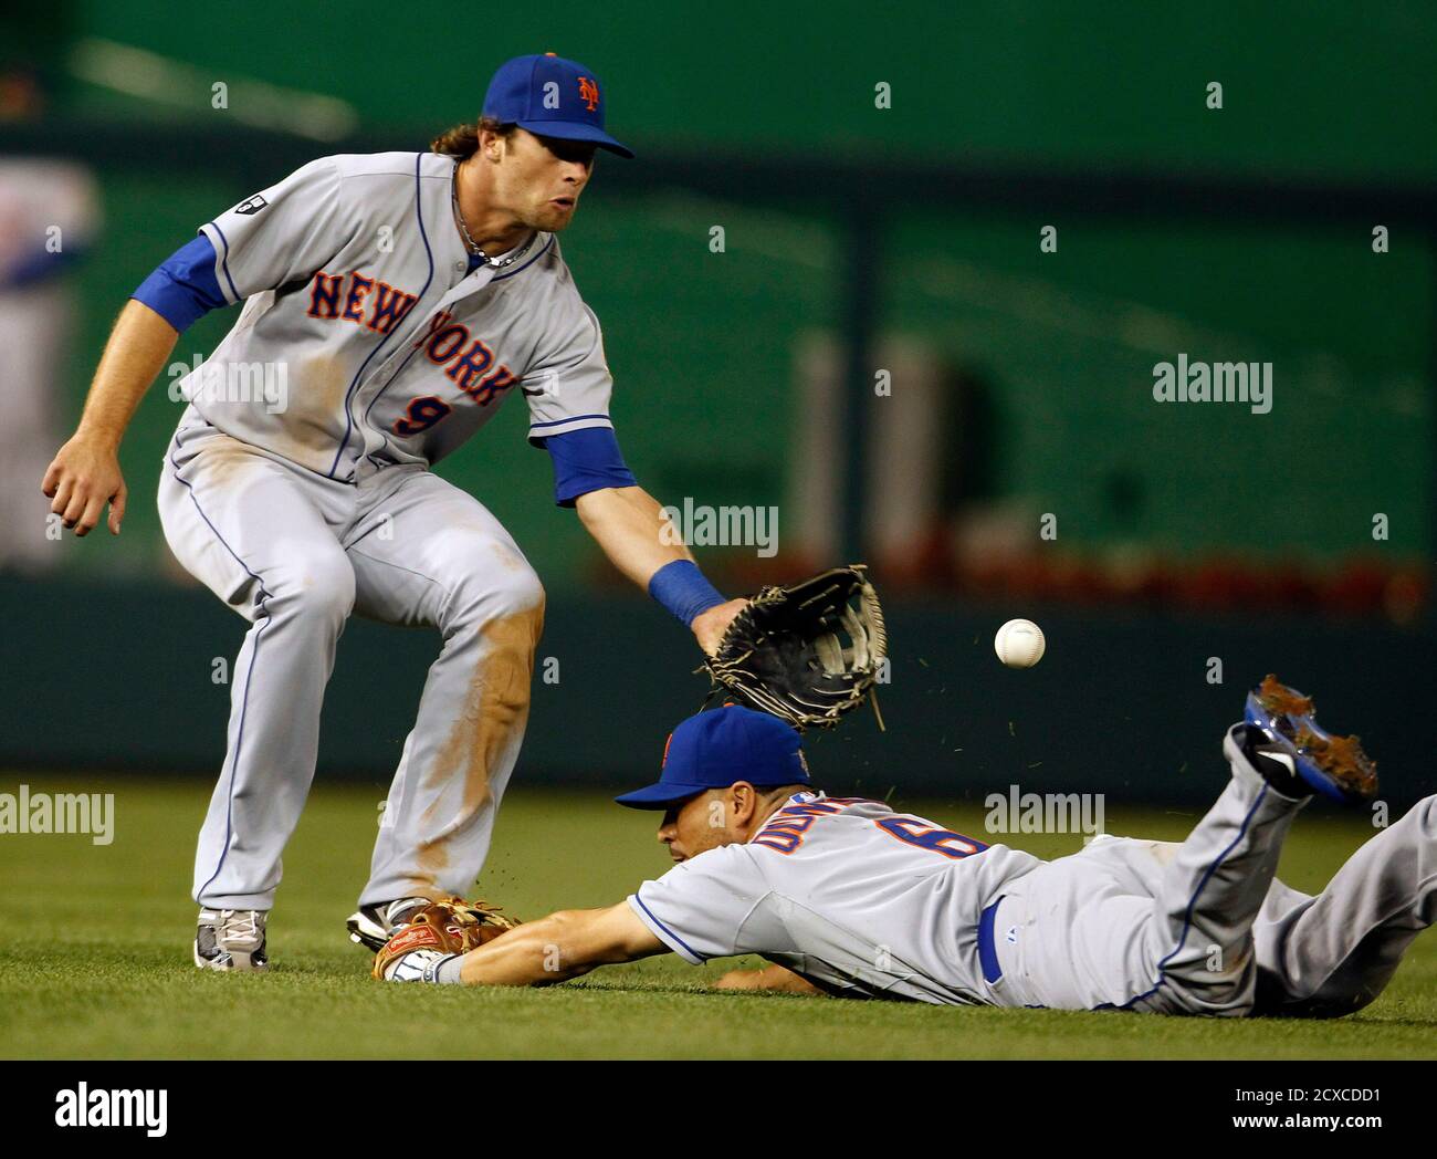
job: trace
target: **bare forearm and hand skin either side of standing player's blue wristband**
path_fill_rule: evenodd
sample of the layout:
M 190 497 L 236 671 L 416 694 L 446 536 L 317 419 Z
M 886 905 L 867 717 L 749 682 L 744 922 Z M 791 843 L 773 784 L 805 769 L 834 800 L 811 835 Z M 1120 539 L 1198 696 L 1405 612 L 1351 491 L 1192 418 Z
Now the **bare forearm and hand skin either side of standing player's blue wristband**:
M 670 564 L 693 564 L 693 554 L 671 533 L 670 521 L 658 500 L 642 487 L 591 490 L 581 495 L 575 506 L 583 526 L 604 548 L 614 567 L 641 588 L 647 590 L 658 571 Z M 724 628 L 746 603 L 729 600 L 698 613 L 690 621 L 690 628 L 706 653 L 714 653 Z

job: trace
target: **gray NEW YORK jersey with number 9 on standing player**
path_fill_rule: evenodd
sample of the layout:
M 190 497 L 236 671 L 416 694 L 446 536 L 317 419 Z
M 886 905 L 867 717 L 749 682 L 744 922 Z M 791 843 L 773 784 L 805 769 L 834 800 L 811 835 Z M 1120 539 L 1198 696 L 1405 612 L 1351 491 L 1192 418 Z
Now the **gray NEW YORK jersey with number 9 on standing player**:
M 532 437 L 611 426 L 599 324 L 558 237 L 537 233 L 512 265 L 470 273 L 454 165 L 322 157 L 203 227 L 221 293 L 244 301 L 181 384 L 213 427 L 352 480 L 438 462 L 514 390 Z

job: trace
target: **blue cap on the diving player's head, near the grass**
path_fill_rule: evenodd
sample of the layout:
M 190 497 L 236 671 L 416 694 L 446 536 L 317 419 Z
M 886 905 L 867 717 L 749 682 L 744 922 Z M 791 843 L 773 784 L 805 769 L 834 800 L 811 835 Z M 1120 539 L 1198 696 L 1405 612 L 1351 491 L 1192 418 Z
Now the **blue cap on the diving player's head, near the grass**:
M 658 784 L 614 800 L 634 810 L 667 810 L 734 781 L 756 788 L 809 784 L 798 729 L 739 705 L 700 712 L 668 735 Z

